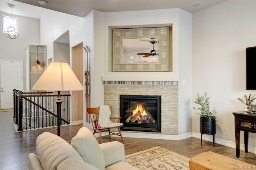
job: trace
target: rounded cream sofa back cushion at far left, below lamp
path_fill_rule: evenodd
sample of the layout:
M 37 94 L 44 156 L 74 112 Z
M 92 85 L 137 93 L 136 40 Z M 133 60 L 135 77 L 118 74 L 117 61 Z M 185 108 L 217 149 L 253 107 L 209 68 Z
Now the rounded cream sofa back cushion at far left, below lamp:
M 82 160 L 66 140 L 50 132 L 44 132 L 36 138 L 36 152 L 45 170 L 56 170 L 69 157 Z

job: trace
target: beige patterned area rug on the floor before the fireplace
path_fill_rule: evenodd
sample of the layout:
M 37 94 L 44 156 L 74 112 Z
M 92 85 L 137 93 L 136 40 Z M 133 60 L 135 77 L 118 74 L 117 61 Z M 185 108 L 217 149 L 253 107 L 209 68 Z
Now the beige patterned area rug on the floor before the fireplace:
M 125 156 L 126 162 L 140 170 L 189 170 L 189 159 L 160 146 Z

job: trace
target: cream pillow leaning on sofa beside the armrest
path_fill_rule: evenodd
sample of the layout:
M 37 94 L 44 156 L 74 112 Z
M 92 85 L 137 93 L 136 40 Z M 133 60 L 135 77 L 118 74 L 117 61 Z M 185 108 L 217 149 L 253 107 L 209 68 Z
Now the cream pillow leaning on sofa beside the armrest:
M 98 141 L 88 128 L 80 128 L 76 136 L 72 138 L 71 145 L 80 154 L 84 162 L 96 166 L 100 170 L 105 169 L 103 152 Z

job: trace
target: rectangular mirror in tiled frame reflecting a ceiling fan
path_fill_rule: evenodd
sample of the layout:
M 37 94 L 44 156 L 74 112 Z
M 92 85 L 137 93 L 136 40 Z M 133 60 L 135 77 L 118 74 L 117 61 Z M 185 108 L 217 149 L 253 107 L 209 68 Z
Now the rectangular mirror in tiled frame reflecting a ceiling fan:
M 113 71 L 169 71 L 169 28 L 114 29 Z

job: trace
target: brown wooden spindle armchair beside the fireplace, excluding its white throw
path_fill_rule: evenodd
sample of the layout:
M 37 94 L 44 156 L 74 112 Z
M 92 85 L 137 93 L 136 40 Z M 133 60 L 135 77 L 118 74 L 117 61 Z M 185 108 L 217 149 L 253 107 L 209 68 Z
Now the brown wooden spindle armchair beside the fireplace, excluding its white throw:
M 110 111 L 112 111 L 112 106 L 110 106 Z M 102 137 L 106 137 L 106 136 L 112 136 L 112 135 L 118 135 L 121 137 L 122 139 L 122 142 L 124 144 L 124 139 L 123 139 L 123 136 L 122 136 L 122 133 L 121 133 L 121 130 L 120 130 L 120 127 L 122 127 L 122 125 L 120 126 L 116 126 L 116 127 L 105 127 L 105 128 L 101 128 L 99 125 L 98 125 L 98 119 L 99 119 L 99 115 L 100 115 L 100 108 L 99 107 L 94 107 L 94 108 L 87 108 L 87 113 L 90 117 L 90 120 L 91 120 L 91 123 L 92 123 L 92 130 L 94 130 L 93 134 L 95 133 L 100 133 L 100 136 L 99 138 L 97 138 L 95 135 L 95 137 L 99 140 L 99 144 L 101 142 L 101 138 Z M 110 117 L 110 120 L 112 119 L 117 119 L 117 122 L 116 123 L 119 123 L 120 121 L 120 117 Z M 111 132 L 110 129 L 111 128 L 118 128 L 118 132 Z M 104 135 L 102 136 L 102 132 L 106 132 L 108 131 L 108 134 L 107 135 Z

